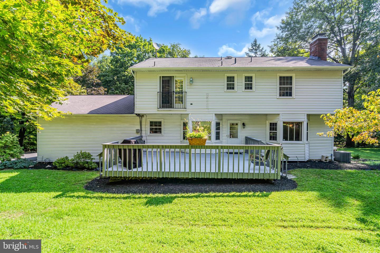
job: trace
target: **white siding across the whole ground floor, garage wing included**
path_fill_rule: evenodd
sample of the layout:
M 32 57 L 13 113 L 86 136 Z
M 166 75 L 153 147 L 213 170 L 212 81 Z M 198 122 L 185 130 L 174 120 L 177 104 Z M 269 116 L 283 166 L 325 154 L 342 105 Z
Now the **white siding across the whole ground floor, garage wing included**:
M 226 144 L 226 128 L 229 120 L 245 124 L 245 128 L 241 127 L 241 144 L 245 143 L 245 136 L 275 142 L 268 138 L 268 122 L 271 122 L 268 119 L 278 122 L 277 138 L 280 138 L 282 134 L 282 121 L 278 121 L 280 118 L 278 114 L 196 114 L 194 116 L 198 117 L 195 118 L 197 121 L 212 121 L 211 129 L 215 129 L 215 122 L 220 122 L 220 140 L 215 141 L 220 144 Z M 194 119 L 192 115 L 185 114 L 144 115 L 141 132 L 143 140 L 146 144 L 187 144 L 187 141 L 182 140 L 182 134 L 184 120 L 189 120 L 189 117 L 191 120 Z M 321 155 L 328 155 L 331 158 L 332 138 L 317 135 L 318 132 L 326 133 L 330 130 L 329 127 L 325 126 L 319 114 L 308 115 L 305 118 L 309 120 L 309 141 L 283 142 L 285 154 L 290 156 L 292 161 L 320 159 Z M 149 122 L 158 119 L 162 120 L 163 134 L 150 135 Z M 38 133 L 38 161 L 44 159 L 54 161 L 63 156 L 73 157 L 81 150 L 91 152 L 97 159 L 102 143 L 122 141 L 140 135 L 136 134 L 136 129 L 139 129 L 140 124 L 139 118 L 135 115 L 67 115 L 65 118 L 55 118 L 52 121 L 39 119 L 39 123 L 44 129 Z

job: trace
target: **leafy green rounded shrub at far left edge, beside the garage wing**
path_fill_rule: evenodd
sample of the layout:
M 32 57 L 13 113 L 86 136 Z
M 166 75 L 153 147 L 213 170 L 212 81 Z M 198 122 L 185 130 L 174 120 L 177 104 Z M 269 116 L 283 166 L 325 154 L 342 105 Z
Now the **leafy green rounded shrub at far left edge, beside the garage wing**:
M 24 151 L 16 135 L 7 132 L 0 138 L 0 162 L 20 159 Z

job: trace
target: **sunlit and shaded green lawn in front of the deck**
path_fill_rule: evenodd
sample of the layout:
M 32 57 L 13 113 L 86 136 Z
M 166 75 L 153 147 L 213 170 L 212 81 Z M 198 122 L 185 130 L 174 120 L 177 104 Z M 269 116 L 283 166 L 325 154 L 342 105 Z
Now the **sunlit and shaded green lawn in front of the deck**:
M 294 170 L 273 193 L 122 195 L 97 173 L 0 171 L 0 238 L 43 252 L 380 252 L 380 171 Z

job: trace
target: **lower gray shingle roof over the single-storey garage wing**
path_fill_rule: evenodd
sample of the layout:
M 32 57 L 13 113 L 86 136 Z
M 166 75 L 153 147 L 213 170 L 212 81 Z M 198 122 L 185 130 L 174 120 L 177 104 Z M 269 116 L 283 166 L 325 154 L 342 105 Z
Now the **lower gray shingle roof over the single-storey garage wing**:
M 63 104 L 51 106 L 61 112 L 73 114 L 133 114 L 133 95 L 78 95 L 67 96 Z

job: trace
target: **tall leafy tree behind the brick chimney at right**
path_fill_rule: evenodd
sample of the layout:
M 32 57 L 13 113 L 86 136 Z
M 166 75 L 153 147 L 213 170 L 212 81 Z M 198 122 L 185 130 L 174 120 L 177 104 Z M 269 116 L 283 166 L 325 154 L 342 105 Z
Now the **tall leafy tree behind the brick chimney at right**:
M 355 107 L 355 92 L 365 86 L 368 73 L 358 67 L 366 61 L 365 57 L 370 57 L 366 49 L 376 44 L 379 14 L 379 0 L 295 0 L 277 27 L 279 32 L 270 46 L 271 53 L 308 57 L 310 39 L 326 32 L 328 59 L 354 67 L 344 76 L 344 87 L 348 107 Z M 349 136 L 346 144 L 353 145 Z

